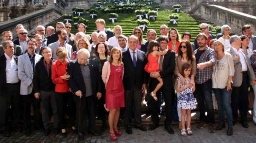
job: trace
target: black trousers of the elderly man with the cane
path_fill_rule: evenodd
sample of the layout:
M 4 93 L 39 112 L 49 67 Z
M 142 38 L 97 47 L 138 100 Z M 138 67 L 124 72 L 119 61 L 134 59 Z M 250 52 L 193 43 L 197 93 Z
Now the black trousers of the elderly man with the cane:
M 94 95 L 86 97 L 84 103 L 76 103 L 76 119 L 79 122 L 79 132 L 87 131 L 87 117 L 89 117 L 89 129 L 95 130 L 95 101 Z M 79 113 L 80 112 L 80 113 Z M 80 118 L 79 118 L 80 115 Z M 80 119 L 80 120 L 79 120 Z

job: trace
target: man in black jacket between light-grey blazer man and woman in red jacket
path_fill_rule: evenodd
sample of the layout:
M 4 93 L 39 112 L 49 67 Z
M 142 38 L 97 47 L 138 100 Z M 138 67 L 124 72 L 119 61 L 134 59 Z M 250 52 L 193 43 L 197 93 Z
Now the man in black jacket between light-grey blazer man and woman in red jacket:
M 57 114 L 57 103 L 55 97 L 55 84 L 52 82 L 52 63 L 55 61 L 52 58 L 52 49 L 49 47 L 42 48 L 42 58 L 35 64 L 33 85 L 34 96 L 40 99 L 42 107 L 42 118 L 44 123 L 44 135 L 48 136 L 50 133 L 50 115 L 49 106 L 51 105 L 54 118 L 54 133 L 59 133 L 59 119 Z

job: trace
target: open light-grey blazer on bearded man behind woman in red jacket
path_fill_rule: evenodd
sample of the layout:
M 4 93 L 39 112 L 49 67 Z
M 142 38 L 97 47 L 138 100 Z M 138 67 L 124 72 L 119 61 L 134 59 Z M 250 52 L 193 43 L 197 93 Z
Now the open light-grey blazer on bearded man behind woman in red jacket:
M 58 60 L 58 57 L 56 56 L 56 50 L 57 50 L 57 48 L 59 48 L 58 41 L 49 44 L 48 47 L 50 47 L 52 49 L 53 59 Z M 66 47 L 66 50 L 67 50 L 67 53 L 68 53 L 67 54 L 67 59 L 70 61 L 71 54 L 73 53 L 72 46 L 70 44 L 66 43 L 65 47 Z

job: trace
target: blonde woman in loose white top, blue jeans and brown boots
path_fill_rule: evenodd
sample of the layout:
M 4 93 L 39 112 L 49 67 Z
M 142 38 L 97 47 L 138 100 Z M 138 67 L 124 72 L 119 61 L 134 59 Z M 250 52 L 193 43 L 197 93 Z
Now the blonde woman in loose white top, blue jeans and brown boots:
M 212 73 L 212 88 L 216 96 L 219 112 L 219 125 L 216 130 L 226 127 L 224 120 L 224 110 L 227 116 L 227 135 L 233 134 L 233 117 L 230 106 L 230 96 L 232 93 L 232 78 L 234 76 L 233 58 L 229 53 L 224 52 L 224 44 L 220 40 L 214 42 L 216 52 L 216 64 Z

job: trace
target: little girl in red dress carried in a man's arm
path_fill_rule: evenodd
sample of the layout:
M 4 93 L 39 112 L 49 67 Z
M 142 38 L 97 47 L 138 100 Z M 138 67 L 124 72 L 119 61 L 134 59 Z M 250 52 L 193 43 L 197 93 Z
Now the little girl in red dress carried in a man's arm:
M 163 52 L 158 51 L 158 42 L 156 40 L 152 40 L 148 43 L 148 52 L 147 52 L 147 60 L 148 63 L 144 67 L 144 70 L 148 73 L 152 72 L 160 72 L 159 71 L 159 63 L 158 63 L 158 55 L 165 55 L 169 49 L 166 49 Z M 163 80 L 162 78 L 156 78 L 159 83 L 157 84 L 156 88 L 150 93 L 150 95 L 157 101 L 156 92 L 162 87 Z

